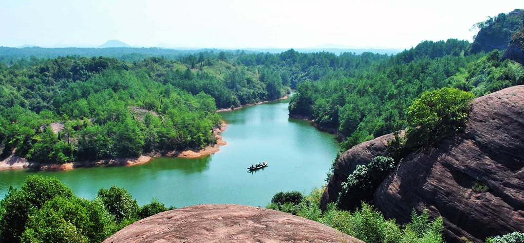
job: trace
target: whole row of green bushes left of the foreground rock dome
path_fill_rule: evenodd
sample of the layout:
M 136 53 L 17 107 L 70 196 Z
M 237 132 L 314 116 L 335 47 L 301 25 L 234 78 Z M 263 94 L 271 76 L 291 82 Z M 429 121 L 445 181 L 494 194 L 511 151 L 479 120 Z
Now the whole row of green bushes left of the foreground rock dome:
M 157 199 L 139 206 L 127 190 L 101 188 L 81 199 L 56 178 L 29 176 L 0 200 L 0 242 L 98 243 L 133 222 L 163 211 Z

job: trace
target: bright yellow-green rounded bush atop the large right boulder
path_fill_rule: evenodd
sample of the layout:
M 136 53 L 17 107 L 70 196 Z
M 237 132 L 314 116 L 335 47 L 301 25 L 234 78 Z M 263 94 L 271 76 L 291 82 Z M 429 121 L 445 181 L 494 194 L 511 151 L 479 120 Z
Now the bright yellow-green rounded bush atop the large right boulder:
M 454 88 L 424 92 L 408 108 L 407 146 L 427 146 L 461 131 L 471 109 L 468 102 L 473 98 L 475 95 Z

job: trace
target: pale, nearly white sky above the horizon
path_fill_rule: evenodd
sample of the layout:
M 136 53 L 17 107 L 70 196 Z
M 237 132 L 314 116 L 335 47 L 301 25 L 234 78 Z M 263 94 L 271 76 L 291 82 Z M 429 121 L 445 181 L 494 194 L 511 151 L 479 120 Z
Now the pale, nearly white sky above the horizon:
M 405 49 L 470 40 L 473 24 L 519 1 L 0 0 L 0 46 Z

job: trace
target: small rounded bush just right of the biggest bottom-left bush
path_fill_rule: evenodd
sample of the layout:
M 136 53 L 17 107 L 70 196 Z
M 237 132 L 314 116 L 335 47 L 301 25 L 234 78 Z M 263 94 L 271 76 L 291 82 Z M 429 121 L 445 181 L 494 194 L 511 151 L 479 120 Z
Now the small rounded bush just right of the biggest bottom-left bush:
M 101 188 L 97 195 L 106 210 L 115 216 L 115 221 L 120 224 L 124 219 L 138 219 L 139 206 L 133 196 L 124 188 L 112 186 L 109 190 Z

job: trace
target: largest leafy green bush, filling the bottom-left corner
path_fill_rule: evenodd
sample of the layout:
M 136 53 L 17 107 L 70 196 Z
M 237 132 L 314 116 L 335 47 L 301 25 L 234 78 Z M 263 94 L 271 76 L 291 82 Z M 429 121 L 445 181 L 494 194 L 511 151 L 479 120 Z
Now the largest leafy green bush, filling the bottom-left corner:
M 29 176 L 0 201 L 0 242 L 95 243 L 116 229 L 100 199 L 80 199 L 56 178 Z

